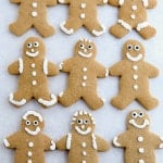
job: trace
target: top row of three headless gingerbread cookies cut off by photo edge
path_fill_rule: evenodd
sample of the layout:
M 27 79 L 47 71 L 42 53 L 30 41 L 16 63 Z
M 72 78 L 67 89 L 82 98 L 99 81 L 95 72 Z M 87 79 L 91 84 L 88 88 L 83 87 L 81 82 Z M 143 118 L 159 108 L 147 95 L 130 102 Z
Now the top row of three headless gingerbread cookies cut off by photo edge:
M 47 21 L 47 7 L 55 5 L 57 0 L 11 0 L 11 2 L 21 4 L 16 22 L 9 27 L 13 34 L 21 36 L 32 26 L 43 37 L 54 34 L 54 28 Z M 95 36 L 102 35 L 105 27 L 98 21 L 97 5 L 104 3 L 120 9 L 117 24 L 110 28 L 113 36 L 122 38 L 133 28 L 145 39 L 155 35 L 155 29 L 147 21 L 147 9 L 154 8 L 155 0 L 59 0 L 59 3 L 70 5 L 68 18 L 61 24 L 61 29 L 67 35 L 74 34 L 82 26 Z

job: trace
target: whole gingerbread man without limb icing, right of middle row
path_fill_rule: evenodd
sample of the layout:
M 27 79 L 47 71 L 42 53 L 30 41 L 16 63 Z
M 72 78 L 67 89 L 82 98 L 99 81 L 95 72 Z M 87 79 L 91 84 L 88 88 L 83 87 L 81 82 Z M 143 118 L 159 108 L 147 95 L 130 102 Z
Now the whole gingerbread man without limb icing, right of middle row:
M 158 105 L 158 100 L 149 91 L 149 78 L 156 77 L 159 71 L 145 61 L 145 48 L 137 40 L 127 40 L 123 47 L 123 60 L 110 67 L 111 76 L 120 76 L 120 92 L 111 100 L 117 109 L 125 109 L 137 100 L 147 110 Z

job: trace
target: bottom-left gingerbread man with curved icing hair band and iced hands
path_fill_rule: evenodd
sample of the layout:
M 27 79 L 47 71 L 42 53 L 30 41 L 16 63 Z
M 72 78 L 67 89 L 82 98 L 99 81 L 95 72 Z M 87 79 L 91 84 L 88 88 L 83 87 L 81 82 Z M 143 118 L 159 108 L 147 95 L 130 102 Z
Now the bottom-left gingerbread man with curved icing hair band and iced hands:
M 15 163 L 45 163 L 45 151 L 55 150 L 55 143 L 41 134 L 45 122 L 42 116 L 28 111 L 22 120 L 22 129 L 3 140 L 7 148 L 16 151 Z

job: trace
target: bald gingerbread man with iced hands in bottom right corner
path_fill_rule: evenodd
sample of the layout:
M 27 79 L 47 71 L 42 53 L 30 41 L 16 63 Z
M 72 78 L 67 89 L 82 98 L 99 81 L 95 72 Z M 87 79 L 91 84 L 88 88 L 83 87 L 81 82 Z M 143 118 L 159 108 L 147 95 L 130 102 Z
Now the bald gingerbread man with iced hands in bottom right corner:
M 127 116 L 127 131 L 114 138 L 115 147 L 125 148 L 125 163 L 155 163 L 154 149 L 163 148 L 163 138 L 149 129 L 149 116 L 131 111 Z

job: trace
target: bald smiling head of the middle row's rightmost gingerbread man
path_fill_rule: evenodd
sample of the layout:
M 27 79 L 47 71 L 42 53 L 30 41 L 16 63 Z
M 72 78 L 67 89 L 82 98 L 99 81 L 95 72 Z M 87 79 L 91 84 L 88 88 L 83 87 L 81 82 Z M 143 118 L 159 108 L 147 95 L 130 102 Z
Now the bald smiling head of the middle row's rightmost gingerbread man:
M 137 40 L 128 40 L 123 47 L 123 59 L 130 62 L 140 62 L 145 58 L 145 48 Z

